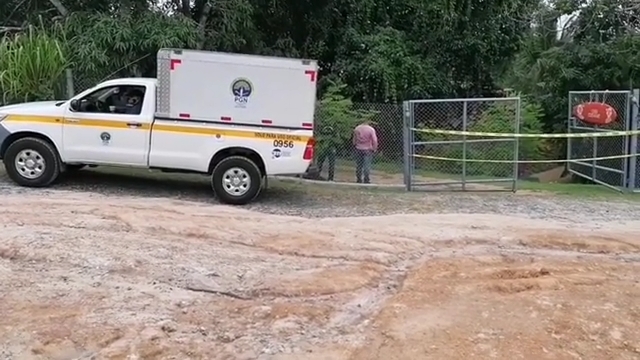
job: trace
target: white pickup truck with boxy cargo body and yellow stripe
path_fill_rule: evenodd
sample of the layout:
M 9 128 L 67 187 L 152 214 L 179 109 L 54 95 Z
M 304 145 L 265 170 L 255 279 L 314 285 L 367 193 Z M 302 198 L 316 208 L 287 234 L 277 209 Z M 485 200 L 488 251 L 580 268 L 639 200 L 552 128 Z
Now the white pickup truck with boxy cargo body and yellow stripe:
M 1 107 L 0 159 L 22 186 L 127 166 L 205 174 L 222 202 L 246 204 L 267 176 L 309 167 L 317 71 L 311 60 L 163 49 L 157 79 Z

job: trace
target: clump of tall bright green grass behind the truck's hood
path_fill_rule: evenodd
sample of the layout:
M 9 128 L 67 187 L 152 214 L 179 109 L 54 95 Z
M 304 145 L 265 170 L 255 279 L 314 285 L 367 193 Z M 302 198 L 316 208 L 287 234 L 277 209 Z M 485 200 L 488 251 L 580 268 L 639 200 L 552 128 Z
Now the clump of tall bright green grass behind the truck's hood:
M 70 65 L 62 32 L 30 26 L 0 39 L 0 102 L 52 100 Z

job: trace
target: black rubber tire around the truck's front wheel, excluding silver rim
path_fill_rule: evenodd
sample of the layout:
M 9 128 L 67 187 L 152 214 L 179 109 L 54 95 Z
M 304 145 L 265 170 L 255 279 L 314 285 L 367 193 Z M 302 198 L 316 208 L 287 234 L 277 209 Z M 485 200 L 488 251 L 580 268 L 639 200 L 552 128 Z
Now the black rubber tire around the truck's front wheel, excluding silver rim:
M 16 167 L 16 157 L 24 150 L 33 150 L 41 156 L 44 170 L 40 176 L 28 178 L 20 174 Z M 26 137 L 11 143 L 4 154 L 4 168 L 11 180 L 20 186 L 46 187 L 60 176 L 60 156 L 55 147 L 47 141 Z

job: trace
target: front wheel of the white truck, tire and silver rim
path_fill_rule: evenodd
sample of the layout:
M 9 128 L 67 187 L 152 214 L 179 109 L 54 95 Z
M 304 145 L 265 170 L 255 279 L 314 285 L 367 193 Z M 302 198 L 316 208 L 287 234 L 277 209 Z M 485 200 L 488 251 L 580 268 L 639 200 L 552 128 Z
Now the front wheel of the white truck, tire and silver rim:
M 9 145 L 4 167 L 9 178 L 20 186 L 45 187 L 60 175 L 60 157 L 50 143 L 27 137 Z

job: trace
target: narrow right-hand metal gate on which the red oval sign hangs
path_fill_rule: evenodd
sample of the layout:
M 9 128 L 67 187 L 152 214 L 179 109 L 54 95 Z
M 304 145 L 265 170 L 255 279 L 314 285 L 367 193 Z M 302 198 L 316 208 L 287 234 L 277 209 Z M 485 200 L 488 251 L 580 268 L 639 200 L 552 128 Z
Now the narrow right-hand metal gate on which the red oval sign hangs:
M 637 94 L 637 90 L 635 93 Z M 571 91 L 569 92 L 568 133 L 603 131 L 634 131 L 638 129 L 637 109 L 632 108 L 631 91 Z M 618 118 L 611 124 L 594 126 L 577 119 L 573 109 L 587 102 L 605 103 L 613 107 Z M 567 140 L 567 168 L 572 174 L 613 189 L 633 189 L 636 184 L 637 135 L 585 137 Z M 633 157 L 631 155 L 634 155 Z M 617 157 L 615 159 L 599 159 Z M 583 160 L 588 159 L 588 160 Z

